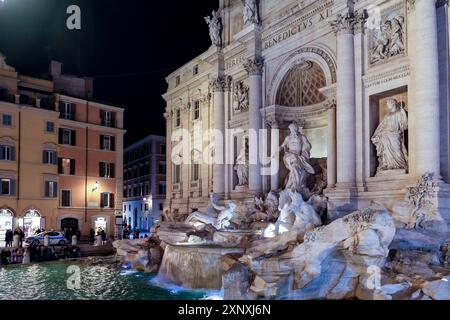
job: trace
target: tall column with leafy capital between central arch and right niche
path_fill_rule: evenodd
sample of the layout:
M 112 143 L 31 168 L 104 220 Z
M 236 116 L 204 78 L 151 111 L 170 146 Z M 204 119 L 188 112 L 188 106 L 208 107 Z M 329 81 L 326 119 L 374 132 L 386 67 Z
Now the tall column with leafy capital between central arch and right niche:
M 354 14 L 339 14 L 331 25 L 337 34 L 337 186 L 352 188 L 356 178 Z

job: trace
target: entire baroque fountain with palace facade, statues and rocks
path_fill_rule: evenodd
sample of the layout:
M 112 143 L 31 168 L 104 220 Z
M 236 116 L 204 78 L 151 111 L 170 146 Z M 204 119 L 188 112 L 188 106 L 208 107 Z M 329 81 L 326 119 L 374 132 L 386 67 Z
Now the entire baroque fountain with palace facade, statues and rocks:
M 164 222 L 119 254 L 225 299 L 450 299 L 448 10 L 221 0 L 167 78 Z

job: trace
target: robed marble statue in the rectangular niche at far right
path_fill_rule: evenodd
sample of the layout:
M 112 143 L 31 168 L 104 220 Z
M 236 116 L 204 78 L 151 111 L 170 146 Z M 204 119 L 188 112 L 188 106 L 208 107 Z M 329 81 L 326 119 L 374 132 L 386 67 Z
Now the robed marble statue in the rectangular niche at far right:
M 405 146 L 405 131 L 408 116 L 402 104 L 395 99 L 387 101 L 388 115 L 378 126 L 372 137 L 377 149 L 378 172 L 408 169 L 408 151 Z

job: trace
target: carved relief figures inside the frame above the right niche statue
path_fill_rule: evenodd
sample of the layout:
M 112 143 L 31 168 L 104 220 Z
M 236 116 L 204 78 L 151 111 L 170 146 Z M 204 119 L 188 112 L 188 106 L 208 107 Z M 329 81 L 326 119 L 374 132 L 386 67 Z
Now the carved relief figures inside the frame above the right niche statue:
M 406 50 L 405 17 L 387 19 L 374 35 L 371 63 L 384 61 Z

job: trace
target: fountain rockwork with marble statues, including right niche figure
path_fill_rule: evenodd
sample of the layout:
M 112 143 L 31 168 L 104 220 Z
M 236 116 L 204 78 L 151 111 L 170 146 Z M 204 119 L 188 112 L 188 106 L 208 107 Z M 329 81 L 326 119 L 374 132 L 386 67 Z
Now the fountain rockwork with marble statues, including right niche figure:
M 388 105 L 372 138 L 380 174 L 407 166 L 406 113 L 396 100 Z M 306 185 L 311 144 L 296 123 L 289 129 L 285 188 L 253 201 L 211 194 L 206 212 L 162 223 L 151 240 L 115 242 L 118 255 L 161 282 L 221 290 L 224 299 L 450 299 L 448 229 L 431 201 L 433 176 L 392 212 L 373 202 L 330 221 L 327 198 Z

